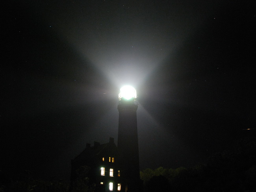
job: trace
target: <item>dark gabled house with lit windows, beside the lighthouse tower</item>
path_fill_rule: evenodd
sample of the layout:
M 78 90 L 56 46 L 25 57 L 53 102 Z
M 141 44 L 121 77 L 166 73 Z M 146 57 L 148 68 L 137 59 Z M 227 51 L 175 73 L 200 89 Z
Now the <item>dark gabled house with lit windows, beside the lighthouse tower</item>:
M 71 190 L 82 191 L 89 187 L 97 192 L 121 191 L 123 182 L 116 161 L 114 138 L 110 137 L 106 144 L 94 142 L 91 146 L 87 143 L 82 153 L 71 160 Z

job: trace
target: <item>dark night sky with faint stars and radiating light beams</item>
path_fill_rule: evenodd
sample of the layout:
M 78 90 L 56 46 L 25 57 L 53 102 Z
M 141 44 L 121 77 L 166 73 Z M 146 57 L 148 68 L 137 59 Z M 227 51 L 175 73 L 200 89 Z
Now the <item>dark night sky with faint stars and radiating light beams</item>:
M 0 170 L 69 178 L 117 144 L 137 89 L 141 170 L 205 163 L 256 127 L 254 1 L 22 1 L 2 13 Z

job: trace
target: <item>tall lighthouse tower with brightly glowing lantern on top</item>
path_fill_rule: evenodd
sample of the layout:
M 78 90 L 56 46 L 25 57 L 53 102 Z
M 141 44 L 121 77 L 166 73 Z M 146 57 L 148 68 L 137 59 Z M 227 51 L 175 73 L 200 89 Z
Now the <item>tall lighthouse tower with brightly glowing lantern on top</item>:
M 120 174 L 127 178 L 126 191 L 128 190 L 128 192 L 141 190 L 136 97 L 136 90 L 133 87 L 124 86 L 120 89 L 117 149 L 121 168 Z

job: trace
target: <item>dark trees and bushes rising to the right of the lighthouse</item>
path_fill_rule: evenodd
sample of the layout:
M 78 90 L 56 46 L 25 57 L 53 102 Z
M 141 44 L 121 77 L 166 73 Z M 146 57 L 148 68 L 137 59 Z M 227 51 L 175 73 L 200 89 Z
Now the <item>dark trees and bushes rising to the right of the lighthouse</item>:
M 255 192 L 255 162 L 256 139 L 243 138 L 232 149 L 212 155 L 207 164 L 176 169 L 147 168 L 140 176 L 145 192 Z

